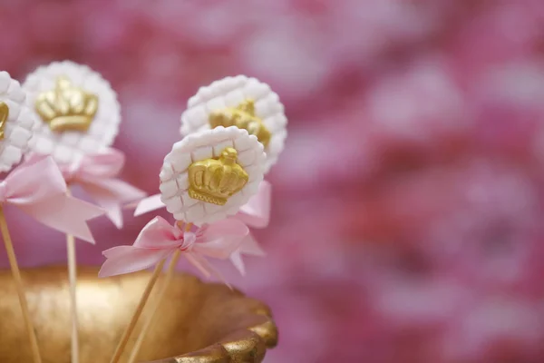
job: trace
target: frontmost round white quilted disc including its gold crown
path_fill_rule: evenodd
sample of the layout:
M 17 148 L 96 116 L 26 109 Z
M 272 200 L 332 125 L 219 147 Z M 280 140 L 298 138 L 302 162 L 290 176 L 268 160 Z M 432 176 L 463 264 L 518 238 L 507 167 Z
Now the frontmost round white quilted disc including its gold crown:
M 266 154 L 246 130 L 219 126 L 176 142 L 160 171 L 160 200 L 198 226 L 234 215 L 257 193 Z

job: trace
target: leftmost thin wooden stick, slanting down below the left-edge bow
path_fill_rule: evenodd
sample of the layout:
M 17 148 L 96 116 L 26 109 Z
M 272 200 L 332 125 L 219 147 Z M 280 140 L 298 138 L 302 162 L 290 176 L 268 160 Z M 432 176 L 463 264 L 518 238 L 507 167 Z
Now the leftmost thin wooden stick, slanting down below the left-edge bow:
M 28 339 L 30 340 L 30 348 L 32 351 L 32 357 L 34 363 L 42 363 L 42 356 L 40 356 L 40 349 L 38 348 L 38 339 L 34 331 L 34 325 L 32 319 L 30 319 L 30 312 L 28 311 L 28 304 L 26 302 L 26 296 L 24 295 L 23 279 L 21 279 L 21 271 L 19 270 L 19 265 L 17 264 L 17 259 L 15 257 L 14 244 L 11 240 L 9 230 L 7 229 L 7 221 L 5 221 L 4 210 L 0 206 L 0 230 L 2 231 L 2 237 L 4 239 L 5 251 L 7 252 L 7 259 L 9 260 L 9 265 L 14 275 L 15 280 L 15 289 L 17 290 L 17 296 L 19 297 L 19 304 L 21 305 L 21 310 L 23 311 L 24 325 L 26 327 L 26 333 L 28 334 Z M 21 347 L 14 347 L 21 348 Z

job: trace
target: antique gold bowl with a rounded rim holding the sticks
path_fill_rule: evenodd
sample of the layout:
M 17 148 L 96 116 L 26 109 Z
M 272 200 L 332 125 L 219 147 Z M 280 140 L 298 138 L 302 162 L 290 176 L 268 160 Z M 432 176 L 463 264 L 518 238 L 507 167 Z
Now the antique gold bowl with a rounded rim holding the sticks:
M 95 268 L 78 271 L 80 363 L 108 363 L 141 297 L 148 272 L 98 279 Z M 24 270 L 23 279 L 44 363 L 70 363 L 70 299 L 65 267 Z M 155 291 L 160 289 L 161 280 Z M 188 274 L 172 280 L 168 299 L 141 348 L 153 363 L 261 362 L 277 344 L 270 309 L 238 290 Z M 151 294 L 148 307 L 151 306 Z M 31 363 L 32 356 L 11 273 L 0 271 L 0 362 Z M 147 309 L 140 321 L 144 321 Z M 132 334 L 124 362 L 140 325 Z

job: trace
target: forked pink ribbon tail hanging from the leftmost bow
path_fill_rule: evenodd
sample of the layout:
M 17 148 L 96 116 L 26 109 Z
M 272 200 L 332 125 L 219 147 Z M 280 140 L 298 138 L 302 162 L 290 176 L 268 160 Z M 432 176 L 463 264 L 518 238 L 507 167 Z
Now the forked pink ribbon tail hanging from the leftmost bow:
M 65 194 L 18 208 L 49 228 L 72 234 L 74 237 L 94 244 L 87 221 L 104 214 L 101 208 Z

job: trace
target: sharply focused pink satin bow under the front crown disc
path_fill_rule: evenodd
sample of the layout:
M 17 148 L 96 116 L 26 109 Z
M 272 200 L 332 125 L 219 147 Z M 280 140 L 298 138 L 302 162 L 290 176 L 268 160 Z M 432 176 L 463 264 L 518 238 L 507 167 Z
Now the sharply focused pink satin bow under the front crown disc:
M 107 260 L 98 276 L 103 278 L 149 269 L 181 250 L 205 276 L 213 274 L 223 280 L 207 258 L 228 259 L 248 233 L 248 227 L 237 220 L 218 221 L 196 231 L 183 231 L 163 218 L 155 217 L 143 227 L 132 246 L 117 246 L 102 252 Z

